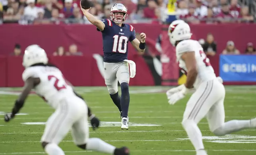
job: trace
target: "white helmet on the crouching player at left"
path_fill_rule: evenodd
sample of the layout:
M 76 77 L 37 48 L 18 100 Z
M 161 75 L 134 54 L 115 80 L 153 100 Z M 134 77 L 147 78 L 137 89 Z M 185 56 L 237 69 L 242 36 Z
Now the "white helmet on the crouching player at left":
M 48 63 L 47 54 L 45 53 L 45 50 L 42 49 L 39 45 L 29 45 L 25 49 L 22 65 L 25 68 L 27 68 L 37 63 L 47 64 Z

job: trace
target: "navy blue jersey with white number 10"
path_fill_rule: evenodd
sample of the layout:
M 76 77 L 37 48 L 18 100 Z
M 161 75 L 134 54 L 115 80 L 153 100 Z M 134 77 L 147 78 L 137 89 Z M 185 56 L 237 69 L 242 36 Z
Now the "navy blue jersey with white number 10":
M 101 20 L 105 24 L 102 33 L 104 62 L 122 62 L 127 59 L 128 42 L 136 38 L 135 30 L 132 25 L 116 25 L 109 19 Z M 98 31 L 100 31 L 97 28 Z

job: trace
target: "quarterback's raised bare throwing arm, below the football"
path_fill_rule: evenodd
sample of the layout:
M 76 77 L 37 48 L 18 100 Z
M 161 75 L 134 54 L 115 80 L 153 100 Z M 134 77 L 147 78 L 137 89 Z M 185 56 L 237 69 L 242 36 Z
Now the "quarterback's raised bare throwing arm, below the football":
M 81 4 L 80 4 L 80 8 L 81 8 L 81 10 L 82 10 L 82 12 L 83 12 L 83 15 L 85 15 L 85 17 L 88 19 L 88 21 L 89 21 L 90 23 L 92 23 L 93 25 L 95 25 L 99 30 L 101 30 L 101 31 L 104 30 L 105 24 L 104 24 L 101 20 L 97 19 L 97 18 L 94 17 L 91 13 L 89 13 L 89 12 L 88 12 L 89 9 L 83 9 L 83 8 L 81 7 Z

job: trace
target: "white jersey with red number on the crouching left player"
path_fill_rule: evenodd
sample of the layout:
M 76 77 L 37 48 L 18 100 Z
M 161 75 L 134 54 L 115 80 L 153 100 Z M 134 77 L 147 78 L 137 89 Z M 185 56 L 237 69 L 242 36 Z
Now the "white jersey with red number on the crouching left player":
M 32 66 L 24 70 L 23 81 L 29 77 L 39 77 L 40 83 L 34 89 L 50 106 L 56 108 L 65 96 L 76 96 L 72 87 L 67 85 L 62 72 L 53 66 Z

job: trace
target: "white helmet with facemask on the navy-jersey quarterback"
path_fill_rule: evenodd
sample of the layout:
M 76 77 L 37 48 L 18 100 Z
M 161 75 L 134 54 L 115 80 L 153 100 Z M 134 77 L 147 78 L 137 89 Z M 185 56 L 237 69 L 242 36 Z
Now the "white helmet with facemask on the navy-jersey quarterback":
M 124 13 L 124 16 L 114 15 L 115 12 L 122 12 Z M 119 18 L 121 17 L 121 19 L 118 19 L 118 17 Z M 114 21 L 116 24 L 120 24 L 126 20 L 126 17 L 127 17 L 127 8 L 124 6 L 124 4 L 116 3 L 112 6 L 110 10 L 111 21 Z

